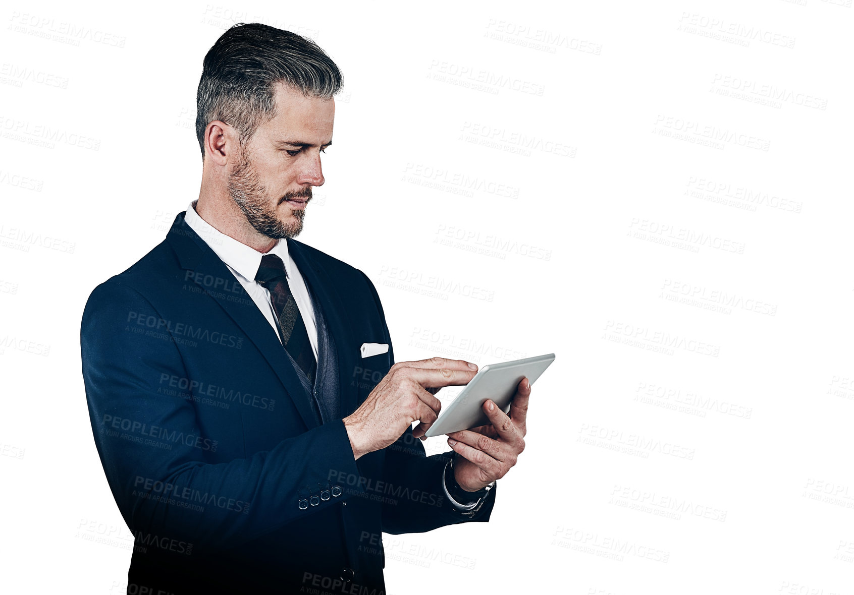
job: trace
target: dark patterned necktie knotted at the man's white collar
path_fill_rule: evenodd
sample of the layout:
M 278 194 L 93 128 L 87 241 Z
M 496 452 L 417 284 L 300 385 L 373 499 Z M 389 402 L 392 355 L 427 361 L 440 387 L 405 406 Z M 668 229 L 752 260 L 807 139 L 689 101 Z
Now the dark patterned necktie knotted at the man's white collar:
M 278 330 L 282 344 L 290 357 L 295 359 L 314 385 L 317 360 L 314 359 L 312 344 L 308 341 L 306 324 L 296 306 L 294 296 L 288 287 L 288 274 L 284 271 L 284 262 L 276 254 L 265 254 L 255 274 L 255 281 L 270 292 L 272 308 L 278 318 Z

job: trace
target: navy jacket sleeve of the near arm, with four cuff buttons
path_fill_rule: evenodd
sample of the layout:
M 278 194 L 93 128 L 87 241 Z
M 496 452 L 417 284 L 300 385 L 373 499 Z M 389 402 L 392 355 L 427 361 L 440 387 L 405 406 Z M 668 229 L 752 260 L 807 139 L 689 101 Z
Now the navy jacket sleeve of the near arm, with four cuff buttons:
M 151 324 L 134 325 L 137 317 Z M 83 376 L 96 446 L 128 526 L 200 546 L 233 547 L 332 505 L 301 510 L 298 500 L 301 487 L 328 483 L 330 470 L 358 474 L 343 422 L 214 464 L 209 451 L 194 444 L 200 435 L 196 405 L 159 390 L 164 375 L 187 377 L 178 347 L 167 330 L 158 329 L 162 320 L 120 278 L 92 292 L 82 320 Z M 161 332 L 163 340 L 143 341 L 134 327 Z M 146 424 L 143 432 L 166 428 L 182 440 L 162 449 L 109 437 L 132 424 Z M 364 498 L 364 490 L 351 487 L 336 502 L 354 496 Z

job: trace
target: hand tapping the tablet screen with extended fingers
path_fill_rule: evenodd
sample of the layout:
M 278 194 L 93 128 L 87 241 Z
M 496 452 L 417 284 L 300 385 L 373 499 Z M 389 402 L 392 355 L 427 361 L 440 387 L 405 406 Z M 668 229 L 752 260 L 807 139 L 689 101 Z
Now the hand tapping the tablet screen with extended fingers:
M 476 374 L 477 365 L 462 359 L 436 357 L 391 366 L 359 409 L 344 417 L 354 457 L 394 444 L 416 420 L 421 423 L 413 435 L 424 435 L 442 409 L 429 389 L 468 384 Z

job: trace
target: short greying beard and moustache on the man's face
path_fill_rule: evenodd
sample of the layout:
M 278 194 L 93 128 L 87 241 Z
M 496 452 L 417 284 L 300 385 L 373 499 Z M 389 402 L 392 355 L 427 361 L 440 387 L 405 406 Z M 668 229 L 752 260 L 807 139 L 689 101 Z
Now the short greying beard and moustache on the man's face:
M 252 160 L 244 149 L 240 163 L 228 174 L 227 189 L 231 200 L 237 203 L 237 207 L 243 211 L 249 225 L 252 225 L 258 233 L 276 240 L 300 235 L 306 209 L 304 207 L 293 209 L 290 212 L 293 218 L 289 216 L 283 221 L 276 214 L 276 207 L 290 198 L 304 198 L 311 201 L 311 186 L 288 192 L 276 201 L 264 184 L 261 184 L 258 172 L 255 171 Z

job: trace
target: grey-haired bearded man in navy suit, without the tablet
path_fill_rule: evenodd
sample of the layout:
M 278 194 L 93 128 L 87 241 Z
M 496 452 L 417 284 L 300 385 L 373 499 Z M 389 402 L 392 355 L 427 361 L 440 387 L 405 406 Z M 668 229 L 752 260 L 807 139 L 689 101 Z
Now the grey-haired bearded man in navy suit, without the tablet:
M 128 593 L 381 593 L 382 532 L 488 521 L 524 448 L 527 379 L 509 417 L 488 401 L 491 424 L 426 457 L 434 393 L 477 366 L 395 364 L 370 279 L 293 239 L 341 85 L 306 38 L 225 32 L 198 89 L 198 199 L 86 304 L 92 429 L 136 537 Z

